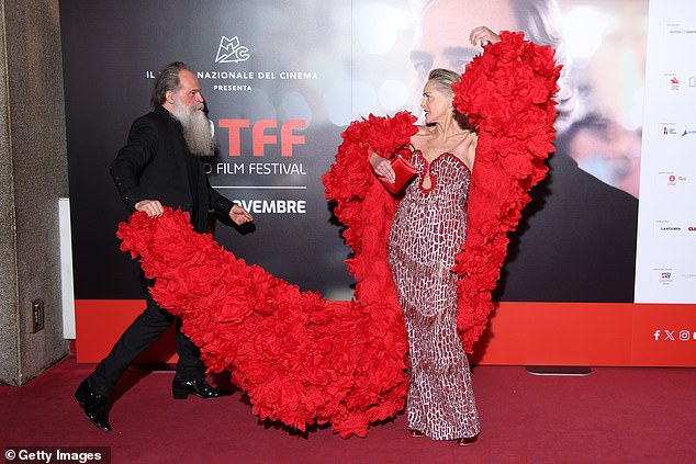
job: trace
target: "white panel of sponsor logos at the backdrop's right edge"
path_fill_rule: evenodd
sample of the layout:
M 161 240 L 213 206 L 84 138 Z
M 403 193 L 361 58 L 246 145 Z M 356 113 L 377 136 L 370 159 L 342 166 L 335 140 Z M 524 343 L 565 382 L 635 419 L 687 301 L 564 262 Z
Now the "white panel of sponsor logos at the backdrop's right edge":
M 696 299 L 696 5 L 652 2 L 636 301 Z

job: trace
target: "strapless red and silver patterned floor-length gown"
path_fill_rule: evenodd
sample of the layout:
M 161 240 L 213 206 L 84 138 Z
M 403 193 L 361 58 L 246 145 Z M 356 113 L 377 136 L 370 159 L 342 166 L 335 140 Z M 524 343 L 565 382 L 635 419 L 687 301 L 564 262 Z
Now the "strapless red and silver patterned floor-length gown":
M 398 203 L 389 238 L 389 262 L 404 310 L 411 358 L 408 428 L 436 440 L 480 431 L 469 361 L 457 335 L 456 274 L 449 270 L 464 242 L 469 168 L 442 154 L 417 170 Z M 423 186 L 430 174 L 430 188 Z

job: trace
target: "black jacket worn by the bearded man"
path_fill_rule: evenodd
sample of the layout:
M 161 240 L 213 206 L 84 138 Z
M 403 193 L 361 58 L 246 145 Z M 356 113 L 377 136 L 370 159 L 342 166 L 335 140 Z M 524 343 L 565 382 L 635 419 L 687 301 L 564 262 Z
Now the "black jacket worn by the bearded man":
M 164 107 L 135 120 L 110 172 L 130 208 L 142 200 L 158 200 L 190 212 L 199 233 L 206 229 L 209 210 L 227 216 L 234 205 L 210 186 L 200 158 L 189 151 L 181 125 Z

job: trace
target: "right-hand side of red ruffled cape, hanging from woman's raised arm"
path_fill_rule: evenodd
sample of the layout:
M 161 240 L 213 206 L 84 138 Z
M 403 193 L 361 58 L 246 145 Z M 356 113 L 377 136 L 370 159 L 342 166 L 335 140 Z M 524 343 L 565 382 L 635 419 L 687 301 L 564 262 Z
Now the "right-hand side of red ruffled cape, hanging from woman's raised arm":
M 467 204 L 467 242 L 454 271 L 457 327 L 464 350 L 485 330 L 493 310 L 491 291 L 507 253 L 527 193 L 546 176 L 554 151 L 555 101 L 561 67 L 553 49 L 503 32 L 502 41 L 467 66 L 454 89 L 454 106 L 479 129 L 476 158 Z

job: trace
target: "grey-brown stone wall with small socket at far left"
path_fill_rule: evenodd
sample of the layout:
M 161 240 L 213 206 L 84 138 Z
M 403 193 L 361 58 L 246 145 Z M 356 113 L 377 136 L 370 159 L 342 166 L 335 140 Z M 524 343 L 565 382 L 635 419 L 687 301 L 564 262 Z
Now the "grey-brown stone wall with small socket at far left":
M 58 199 L 68 196 L 57 1 L 0 2 L 0 383 L 65 357 Z M 31 333 L 31 302 L 44 329 Z

